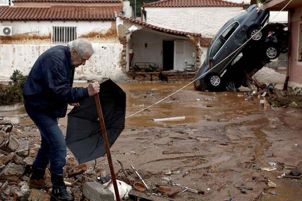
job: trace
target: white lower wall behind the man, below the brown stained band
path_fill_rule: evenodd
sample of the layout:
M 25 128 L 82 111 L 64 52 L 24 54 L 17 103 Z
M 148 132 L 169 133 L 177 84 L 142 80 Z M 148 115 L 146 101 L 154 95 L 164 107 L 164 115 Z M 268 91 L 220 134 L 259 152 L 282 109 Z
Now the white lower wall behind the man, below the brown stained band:
M 51 45 L 0 45 L 0 80 L 8 80 L 14 70 L 20 70 L 27 75 L 36 59 Z M 125 78 L 120 68 L 120 58 L 123 46 L 118 43 L 93 43 L 95 54 L 85 66 L 76 68 L 75 79 Z

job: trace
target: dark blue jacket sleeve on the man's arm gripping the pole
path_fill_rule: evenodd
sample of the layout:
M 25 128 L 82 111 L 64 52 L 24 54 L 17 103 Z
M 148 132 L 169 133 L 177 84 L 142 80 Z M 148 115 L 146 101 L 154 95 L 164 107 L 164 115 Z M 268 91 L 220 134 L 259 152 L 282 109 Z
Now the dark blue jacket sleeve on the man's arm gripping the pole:
M 57 56 L 59 57 L 59 55 Z M 53 99 L 56 102 L 78 103 L 89 97 L 88 88 L 71 87 L 68 66 L 57 59 L 57 56 L 52 55 L 42 63 L 44 81 Z

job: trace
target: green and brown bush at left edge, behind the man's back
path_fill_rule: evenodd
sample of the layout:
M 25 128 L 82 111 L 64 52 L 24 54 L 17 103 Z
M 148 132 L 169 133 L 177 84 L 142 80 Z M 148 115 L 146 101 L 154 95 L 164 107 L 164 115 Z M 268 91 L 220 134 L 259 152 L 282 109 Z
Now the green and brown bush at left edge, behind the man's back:
M 23 102 L 22 90 L 27 79 L 19 70 L 14 70 L 8 85 L 0 84 L 0 105 Z

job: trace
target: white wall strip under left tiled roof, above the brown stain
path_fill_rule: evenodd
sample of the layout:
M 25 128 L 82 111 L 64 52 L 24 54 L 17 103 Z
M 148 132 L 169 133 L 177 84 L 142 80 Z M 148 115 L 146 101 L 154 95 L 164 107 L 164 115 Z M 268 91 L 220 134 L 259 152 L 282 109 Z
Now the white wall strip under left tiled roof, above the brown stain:
M 32 33 L 48 35 L 53 26 L 77 27 L 78 36 L 90 32 L 106 33 L 114 21 L 1 21 L 0 26 L 12 26 L 13 35 Z

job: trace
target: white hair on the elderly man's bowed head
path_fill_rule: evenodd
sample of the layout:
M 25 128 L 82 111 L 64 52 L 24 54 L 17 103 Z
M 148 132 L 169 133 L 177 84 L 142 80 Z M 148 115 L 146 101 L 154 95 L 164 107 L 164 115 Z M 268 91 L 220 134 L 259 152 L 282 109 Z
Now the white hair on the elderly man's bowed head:
M 86 53 L 94 53 L 91 42 L 89 40 L 80 38 L 74 41 L 70 41 L 68 43 L 69 51 L 71 52 L 73 49 L 77 51 L 78 54 L 84 56 Z

